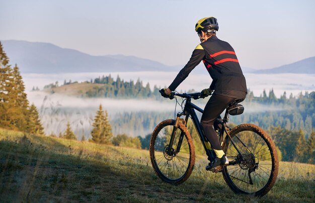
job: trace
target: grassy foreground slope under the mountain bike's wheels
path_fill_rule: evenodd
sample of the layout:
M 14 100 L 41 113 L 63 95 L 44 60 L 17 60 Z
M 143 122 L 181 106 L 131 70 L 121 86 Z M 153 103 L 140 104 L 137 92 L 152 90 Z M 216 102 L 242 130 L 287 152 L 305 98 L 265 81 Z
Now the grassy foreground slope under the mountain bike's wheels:
M 315 165 L 281 162 L 262 198 L 234 194 L 197 157 L 190 178 L 173 186 L 155 175 L 146 150 L 97 145 L 0 129 L 0 201 L 311 202 Z

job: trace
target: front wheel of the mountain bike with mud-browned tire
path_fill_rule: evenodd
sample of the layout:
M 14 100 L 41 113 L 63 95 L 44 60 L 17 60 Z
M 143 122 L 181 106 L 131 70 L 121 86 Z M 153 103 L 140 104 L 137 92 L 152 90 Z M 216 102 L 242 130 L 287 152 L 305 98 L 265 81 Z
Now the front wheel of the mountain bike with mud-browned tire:
M 172 149 L 177 148 L 178 140 L 183 133 L 180 151 L 175 156 L 166 153 L 175 120 L 165 120 L 158 124 L 150 139 L 150 160 L 152 167 L 163 181 L 181 184 L 190 176 L 195 164 L 195 148 L 192 137 L 185 127 L 179 123 Z

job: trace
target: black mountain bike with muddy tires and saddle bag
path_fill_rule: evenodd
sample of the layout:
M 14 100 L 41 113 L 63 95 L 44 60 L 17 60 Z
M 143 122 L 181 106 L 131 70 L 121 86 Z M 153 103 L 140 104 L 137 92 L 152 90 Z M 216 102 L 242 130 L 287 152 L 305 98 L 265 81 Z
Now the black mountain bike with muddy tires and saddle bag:
M 181 104 L 177 96 L 182 98 Z M 197 118 L 196 111 L 203 113 L 203 110 L 191 102 L 191 99 L 201 98 L 201 93 L 172 92 L 170 98 L 176 98 L 182 112 L 177 114 L 175 120 L 162 121 L 155 127 L 149 152 L 155 173 L 163 181 L 177 185 L 187 180 L 195 164 L 193 139 L 187 129 L 189 118 L 209 161 L 214 160 L 215 153 Z M 242 100 L 232 101 L 223 119 L 219 117 L 215 120 L 214 126 L 219 126 L 215 130 L 229 165 L 212 172 L 222 172 L 225 182 L 235 193 L 263 196 L 272 188 L 278 175 L 277 151 L 271 137 L 260 127 L 241 124 L 231 129 L 227 126 L 229 115 L 243 113 L 244 107 L 239 104 Z

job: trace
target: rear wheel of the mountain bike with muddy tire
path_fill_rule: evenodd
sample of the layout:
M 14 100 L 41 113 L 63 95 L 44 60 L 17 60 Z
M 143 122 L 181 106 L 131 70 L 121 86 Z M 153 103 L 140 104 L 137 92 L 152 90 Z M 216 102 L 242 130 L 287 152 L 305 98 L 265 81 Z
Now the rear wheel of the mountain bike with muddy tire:
M 222 173 L 225 182 L 235 193 L 253 196 L 267 194 L 278 175 L 278 155 L 271 137 L 263 129 L 253 124 L 236 126 L 229 134 L 237 147 L 240 148 L 245 161 L 235 164 L 239 153 L 226 136 L 222 149 L 229 162 L 235 162 L 234 165 L 223 167 Z M 237 137 L 240 137 L 248 146 L 249 151 Z M 258 142 L 256 142 L 257 140 Z

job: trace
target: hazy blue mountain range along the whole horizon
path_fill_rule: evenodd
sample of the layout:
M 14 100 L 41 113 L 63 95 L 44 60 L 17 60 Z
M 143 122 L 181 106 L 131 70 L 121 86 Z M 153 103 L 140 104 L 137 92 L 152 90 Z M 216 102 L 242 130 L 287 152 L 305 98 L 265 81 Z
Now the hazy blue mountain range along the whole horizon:
M 10 59 L 10 64 L 18 64 L 22 73 L 179 71 L 184 67 L 184 65 L 168 66 L 135 56 L 92 56 L 50 43 L 19 40 L 3 40 L 1 42 Z M 202 68 L 199 69 L 203 70 Z M 271 69 L 255 70 L 245 67 L 243 71 L 266 74 L 315 74 L 315 57 Z

